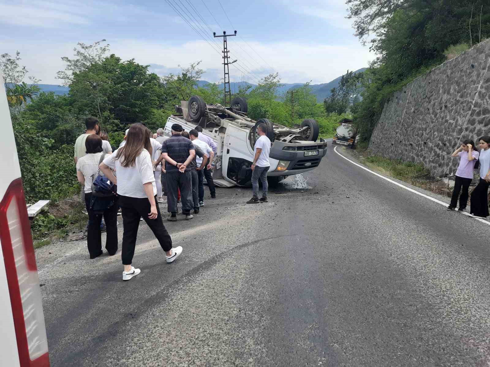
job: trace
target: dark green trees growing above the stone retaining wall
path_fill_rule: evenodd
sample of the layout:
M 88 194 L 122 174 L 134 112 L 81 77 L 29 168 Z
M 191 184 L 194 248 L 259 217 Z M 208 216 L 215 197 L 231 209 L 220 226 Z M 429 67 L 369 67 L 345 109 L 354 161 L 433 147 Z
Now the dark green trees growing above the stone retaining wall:
M 361 80 L 355 121 L 368 141 L 393 92 L 490 36 L 490 8 L 479 1 L 347 0 L 355 35 L 379 55 Z

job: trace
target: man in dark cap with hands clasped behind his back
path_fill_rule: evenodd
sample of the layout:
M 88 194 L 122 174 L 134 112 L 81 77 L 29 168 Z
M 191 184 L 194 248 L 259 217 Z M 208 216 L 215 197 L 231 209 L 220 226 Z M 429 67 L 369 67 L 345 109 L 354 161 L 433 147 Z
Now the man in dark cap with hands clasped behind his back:
M 160 161 L 166 161 L 167 205 L 171 213 L 171 217 L 168 220 L 172 222 L 177 220 L 177 192 L 179 189 L 182 213 L 185 214 L 185 219 L 194 218 L 191 214 L 193 199 L 190 164 L 196 156 L 196 150 L 191 140 L 181 135 L 183 130 L 179 124 L 172 125 L 172 137 L 163 142 L 162 155 L 156 162 L 156 165 L 158 165 Z

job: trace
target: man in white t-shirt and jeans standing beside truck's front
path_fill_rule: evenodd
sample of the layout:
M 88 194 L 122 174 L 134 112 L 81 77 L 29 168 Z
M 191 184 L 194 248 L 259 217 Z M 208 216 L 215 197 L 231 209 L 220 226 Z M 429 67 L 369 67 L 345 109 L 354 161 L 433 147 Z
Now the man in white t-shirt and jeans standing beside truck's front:
M 255 142 L 254 151 L 255 156 L 252 162 L 252 188 L 253 196 L 247 201 L 247 204 L 257 204 L 259 202 L 267 203 L 267 172 L 270 168 L 269 153 L 270 153 L 270 140 L 266 136 L 266 124 L 259 124 L 257 126 L 257 134 L 259 138 Z M 262 182 L 262 197 L 259 199 L 259 179 Z

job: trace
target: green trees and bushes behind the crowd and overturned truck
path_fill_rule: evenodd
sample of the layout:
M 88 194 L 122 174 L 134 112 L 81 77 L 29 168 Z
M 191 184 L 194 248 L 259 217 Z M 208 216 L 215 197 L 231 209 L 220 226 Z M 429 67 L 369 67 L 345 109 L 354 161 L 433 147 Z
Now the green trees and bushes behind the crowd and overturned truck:
M 38 80 L 33 77 L 29 84 L 24 83 L 29 75 L 20 65 L 19 52 L 15 56 L 0 55 L 28 202 L 59 201 L 79 191 L 73 144 L 85 129 L 86 116 L 96 116 L 111 144 L 118 146 L 131 123 L 144 122 L 155 132 L 165 126 L 174 106 L 193 94 L 207 103 L 222 103 L 219 85 L 198 82 L 203 74 L 199 62 L 178 74 L 159 77 L 148 71 L 148 65 L 110 54 L 104 41 L 79 43 L 73 59 L 63 57 L 67 68 L 57 73 L 60 83 L 69 88 L 63 95 L 58 91 L 40 92 Z M 333 136 L 338 122 L 350 116 L 346 109 L 327 113 L 308 83 L 296 88 L 293 102 L 281 98 L 281 88 L 278 74 L 271 74 L 253 90 L 244 86 L 235 95 L 248 100 L 249 116 L 254 119 L 265 117 L 273 123 L 292 125 L 314 118 L 322 137 Z

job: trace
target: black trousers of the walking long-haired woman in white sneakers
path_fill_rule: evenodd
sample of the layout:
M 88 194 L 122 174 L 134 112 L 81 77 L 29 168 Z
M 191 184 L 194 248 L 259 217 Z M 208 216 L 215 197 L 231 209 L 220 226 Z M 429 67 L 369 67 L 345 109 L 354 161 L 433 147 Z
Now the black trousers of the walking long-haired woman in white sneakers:
M 131 262 L 133 261 L 136 236 L 138 235 L 138 228 L 140 226 L 140 217 L 145 220 L 162 249 L 164 251 L 170 251 L 170 249 L 172 249 L 172 238 L 163 225 L 162 214 L 160 214 L 158 205 L 156 206 L 158 213 L 156 219 L 148 218 L 148 214 L 151 210 L 148 198 L 131 198 L 129 196 L 119 195 L 119 205 L 121 206 L 124 227 L 123 251 L 121 253 L 123 265 L 131 265 Z

